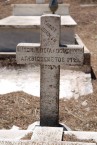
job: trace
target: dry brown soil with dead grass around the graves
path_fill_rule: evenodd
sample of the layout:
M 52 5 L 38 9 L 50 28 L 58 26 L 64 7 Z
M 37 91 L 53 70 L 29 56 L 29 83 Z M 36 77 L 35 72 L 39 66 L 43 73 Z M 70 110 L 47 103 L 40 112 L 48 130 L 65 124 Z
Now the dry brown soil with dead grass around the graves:
M 34 1 L 35 2 L 35 1 Z M 11 15 L 14 3 L 34 3 L 32 0 L 0 0 L 0 18 Z M 97 77 L 97 6 L 80 7 L 79 0 L 64 0 L 70 4 L 70 15 L 78 23 L 76 33 L 91 52 L 91 66 Z M 0 60 L 0 67 L 16 66 L 15 60 Z M 72 130 L 97 131 L 97 80 L 93 79 L 93 94 L 78 99 L 60 100 L 60 122 Z M 26 129 L 39 120 L 40 98 L 24 92 L 0 95 L 0 129 L 10 129 L 13 125 Z

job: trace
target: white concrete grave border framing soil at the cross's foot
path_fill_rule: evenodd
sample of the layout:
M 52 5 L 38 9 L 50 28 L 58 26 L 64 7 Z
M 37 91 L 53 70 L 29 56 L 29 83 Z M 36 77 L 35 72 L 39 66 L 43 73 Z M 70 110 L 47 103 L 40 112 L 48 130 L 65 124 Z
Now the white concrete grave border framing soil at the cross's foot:
M 5 134 L 8 136 L 10 135 L 10 132 L 15 134 L 16 132 L 20 132 L 20 134 L 24 134 L 27 135 L 27 133 L 33 133 L 34 130 L 0 130 L 0 134 L 2 134 L 2 136 L 5 136 Z M 83 140 L 94 140 L 95 142 L 97 142 L 97 132 L 86 132 L 86 131 L 64 131 L 64 135 L 75 135 L 75 137 L 77 139 L 79 139 L 80 141 Z M 16 139 L 16 138 L 0 138 L 0 145 L 46 145 L 45 143 L 40 143 L 36 142 L 33 140 L 21 140 L 22 137 L 24 137 L 23 135 L 20 136 L 20 138 Z M 4 144 L 3 144 L 4 143 Z M 29 144 L 27 144 L 29 143 Z M 55 143 L 55 144 L 54 144 Z M 65 144 L 64 144 L 65 143 Z M 53 142 L 54 145 L 88 145 L 89 143 L 84 144 L 84 142 L 79 142 L 80 144 L 75 144 L 76 142 L 72 142 L 72 144 L 70 144 L 70 141 L 61 141 L 61 142 Z M 78 143 L 78 142 L 77 142 Z M 47 145 L 52 145 L 52 142 L 49 142 Z M 89 145 L 96 145 L 96 143 L 90 143 Z

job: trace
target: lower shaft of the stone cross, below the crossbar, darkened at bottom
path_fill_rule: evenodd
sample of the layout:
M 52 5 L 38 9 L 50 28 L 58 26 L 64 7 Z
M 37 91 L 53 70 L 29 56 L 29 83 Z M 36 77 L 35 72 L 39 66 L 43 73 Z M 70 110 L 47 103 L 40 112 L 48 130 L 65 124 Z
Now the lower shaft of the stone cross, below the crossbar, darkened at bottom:
M 41 66 L 40 125 L 59 125 L 60 66 Z

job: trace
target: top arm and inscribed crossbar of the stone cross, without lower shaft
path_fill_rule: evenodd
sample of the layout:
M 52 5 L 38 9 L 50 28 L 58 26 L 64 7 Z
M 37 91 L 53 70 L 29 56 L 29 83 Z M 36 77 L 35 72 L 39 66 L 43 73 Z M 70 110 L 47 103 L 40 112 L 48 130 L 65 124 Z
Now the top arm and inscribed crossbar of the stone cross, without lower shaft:
M 58 20 L 59 19 L 59 20 Z M 36 63 L 42 65 L 82 65 L 83 45 L 60 44 L 61 18 L 59 15 L 41 17 L 41 42 L 24 43 L 17 46 L 17 63 Z

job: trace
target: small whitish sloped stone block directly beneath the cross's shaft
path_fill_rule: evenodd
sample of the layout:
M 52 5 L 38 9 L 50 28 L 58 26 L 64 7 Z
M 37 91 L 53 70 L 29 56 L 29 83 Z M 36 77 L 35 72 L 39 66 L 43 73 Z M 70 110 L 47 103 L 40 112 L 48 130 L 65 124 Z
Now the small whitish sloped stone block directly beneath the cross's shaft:
M 63 127 L 38 127 L 36 126 L 31 140 L 39 142 L 61 141 Z

